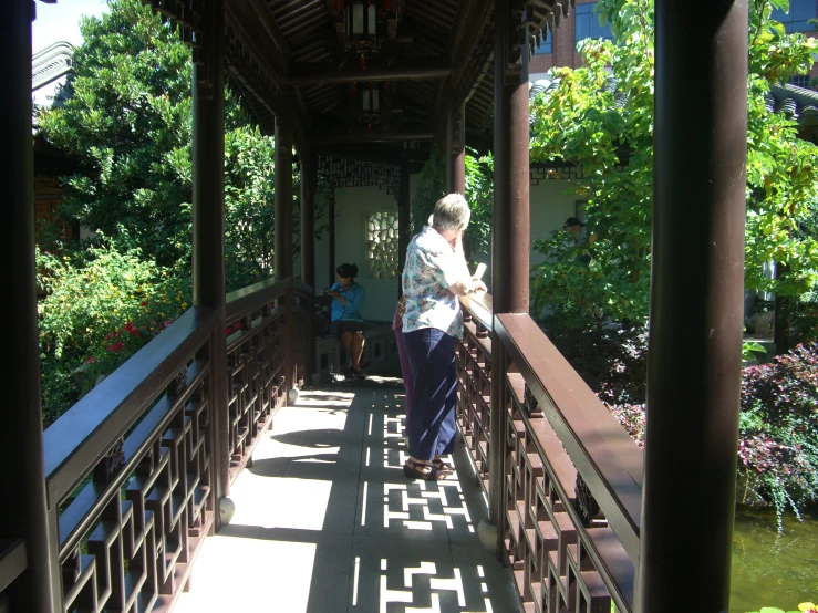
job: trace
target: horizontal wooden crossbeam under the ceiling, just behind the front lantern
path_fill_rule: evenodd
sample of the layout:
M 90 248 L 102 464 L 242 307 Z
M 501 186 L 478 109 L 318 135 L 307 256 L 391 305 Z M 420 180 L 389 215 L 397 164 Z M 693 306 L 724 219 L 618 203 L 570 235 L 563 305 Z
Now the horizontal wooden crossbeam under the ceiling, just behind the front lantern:
M 448 64 L 441 60 L 404 60 L 392 65 L 367 65 L 363 70 L 358 64 L 339 69 L 334 64 L 304 64 L 298 71 L 290 71 L 292 85 L 321 85 L 325 83 L 353 83 L 355 81 L 411 81 L 446 79 L 452 73 Z

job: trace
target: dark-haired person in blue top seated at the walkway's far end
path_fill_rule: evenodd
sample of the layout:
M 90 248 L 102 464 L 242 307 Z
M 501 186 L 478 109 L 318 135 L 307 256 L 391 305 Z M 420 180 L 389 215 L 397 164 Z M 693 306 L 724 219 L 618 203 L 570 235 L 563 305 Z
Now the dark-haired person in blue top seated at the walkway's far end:
M 341 340 L 350 356 L 350 376 L 366 378 L 361 370 L 363 354 L 363 318 L 361 306 L 366 300 L 366 290 L 355 283 L 358 267 L 342 263 L 335 269 L 338 282 L 327 290 L 332 297 L 330 335 Z

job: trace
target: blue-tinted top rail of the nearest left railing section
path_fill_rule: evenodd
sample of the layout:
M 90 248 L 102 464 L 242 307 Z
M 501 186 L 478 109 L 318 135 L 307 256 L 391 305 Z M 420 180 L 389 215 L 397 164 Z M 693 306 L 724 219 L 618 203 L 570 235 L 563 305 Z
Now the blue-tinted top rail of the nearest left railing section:
M 215 311 L 194 306 L 43 433 L 49 507 L 60 503 L 207 341 Z

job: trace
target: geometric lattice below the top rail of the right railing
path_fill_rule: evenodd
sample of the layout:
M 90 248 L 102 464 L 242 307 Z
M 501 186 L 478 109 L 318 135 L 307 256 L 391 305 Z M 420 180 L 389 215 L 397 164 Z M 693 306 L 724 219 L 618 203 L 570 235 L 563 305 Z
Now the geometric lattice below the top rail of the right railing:
M 489 445 L 503 446 L 506 513 L 500 532 L 522 609 L 609 613 L 609 585 L 618 585 L 623 611 L 629 611 L 633 564 L 601 513 L 582 516 L 577 469 L 548 419 L 527 406 L 526 381 L 512 367 L 505 377 L 505 439 L 490 440 L 490 339 L 465 309 L 464 320 L 457 350 L 458 425 L 486 491 Z

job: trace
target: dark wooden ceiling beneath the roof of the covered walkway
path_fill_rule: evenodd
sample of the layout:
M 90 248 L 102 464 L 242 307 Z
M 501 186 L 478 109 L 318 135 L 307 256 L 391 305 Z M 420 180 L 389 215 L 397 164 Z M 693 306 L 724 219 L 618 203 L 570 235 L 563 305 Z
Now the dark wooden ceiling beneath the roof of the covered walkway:
M 196 41 L 207 35 L 207 0 L 143 2 L 204 63 Z M 532 33 L 553 28 L 573 0 L 509 3 Z M 376 24 L 373 37 L 355 35 L 353 11 Z M 463 103 L 467 132 L 490 132 L 494 11 L 495 0 L 225 0 L 226 74 L 262 129 L 277 116 L 292 126 L 299 150 L 438 139 L 446 107 Z M 375 95 L 379 110 L 367 111 Z

